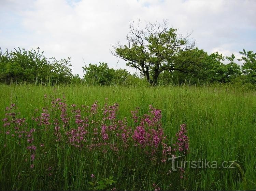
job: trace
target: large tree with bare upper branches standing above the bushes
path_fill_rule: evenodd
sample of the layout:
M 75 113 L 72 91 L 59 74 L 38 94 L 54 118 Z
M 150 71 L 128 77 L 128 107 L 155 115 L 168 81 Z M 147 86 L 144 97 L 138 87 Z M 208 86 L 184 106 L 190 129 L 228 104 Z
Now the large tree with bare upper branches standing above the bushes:
M 127 66 L 138 69 L 140 73 L 152 85 L 157 85 L 158 76 L 165 70 L 184 71 L 183 64 L 175 62 L 178 53 L 191 50 L 195 41 L 189 39 L 190 34 L 183 37 L 178 35 L 177 29 L 167 27 L 167 21 L 162 24 L 158 22 L 147 22 L 144 29 L 140 28 L 140 21 L 137 27 L 130 22 L 130 34 L 126 36 L 127 45 L 120 42 L 113 46 L 111 51 L 114 56 L 128 61 Z

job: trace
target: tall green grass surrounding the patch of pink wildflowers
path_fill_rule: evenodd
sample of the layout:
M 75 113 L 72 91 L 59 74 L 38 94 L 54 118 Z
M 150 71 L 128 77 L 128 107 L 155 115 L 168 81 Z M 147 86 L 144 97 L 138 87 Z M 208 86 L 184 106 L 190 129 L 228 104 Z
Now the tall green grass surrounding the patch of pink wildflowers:
M 155 183 L 162 190 L 255 190 L 256 189 L 256 92 L 232 86 L 204 87 L 96 87 L 56 86 L 57 97 L 66 95 L 67 104 L 92 105 L 95 100 L 103 106 L 105 98 L 109 104 L 118 103 L 118 119 L 131 116 L 130 111 L 140 107 L 146 114 L 152 104 L 162 111 L 162 127 L 172 138 L 180 124 L 187 126 L 190 153 L 187 160 L 235 161 L 232 169 L 186 168 L 184 177 L 179 172 L 166 175 L 171 162 L 156 165 L 146 162 L 142 150 L 133 148 L 122 151 L 125 160 L 117 162 L 115 154 L 102 158 L 99 152 L 86 149 L 77 151 L 72 146 L 54 143 L 52 138 L 41 137 L 45 143 L 38 148 L 41 159 L 34 169 L 24 162 L 26 149 L 4 147 L 5 134 L 0 134 L 0 189 L 12 190 L 81 190 L 90 189 L 89 181 L 106 180 L 113 176 L 114 186 L 127 190 L 154 190 Z M 20 115 L 30 119 L 34 109 L 45 107 L 44 94 L 54 94 L 51 86 L 0 85 L 0 117 L 5 117 L 5 107 L 15 103 Z M 33 125 L 28 121 L 28 125 Z M 171 139 L 172 140 L 172 139 Z M 9 141 L 10 142 L 10 141 Z M 39 144 L 39 142 L 38 142 Z M 46 172 L 51 166 L 52 170 Z M 52 173 L 48 176 L 48 173 Z M 163 173 L 165 173 L 163 175 Z M 92 178 L 91 174 L 95 177 Z M 178 178 L 177 178 L 178 177 Z M 101 181 L 102 182 L 102 181 Z

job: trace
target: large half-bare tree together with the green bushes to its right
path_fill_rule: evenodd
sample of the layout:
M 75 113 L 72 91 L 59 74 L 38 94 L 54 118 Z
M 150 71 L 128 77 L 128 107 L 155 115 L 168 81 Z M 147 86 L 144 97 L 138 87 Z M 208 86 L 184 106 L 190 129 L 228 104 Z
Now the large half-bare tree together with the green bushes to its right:
M 127 44 L 117 44 L 113 55 L 127 61 L 127 66 L 135 68 L 151 85 L 160 84 L 205 84 L 232 83 L 243 79 L 235 56 L 226 57 L 230 63 L 224 64 L 225 57 L 218 52 L 208 55 L 198 48 L 189 36 L 177 35 L 177 29 L 168 28 L 167 21 L 162 24 L 146 23 L 145 29 L 140 28 L 140 22 L 134 27 L 130 23 L 130 34 Z M 256 53 L 240 52 L 243 74 L 246 81 L 256 82 Z

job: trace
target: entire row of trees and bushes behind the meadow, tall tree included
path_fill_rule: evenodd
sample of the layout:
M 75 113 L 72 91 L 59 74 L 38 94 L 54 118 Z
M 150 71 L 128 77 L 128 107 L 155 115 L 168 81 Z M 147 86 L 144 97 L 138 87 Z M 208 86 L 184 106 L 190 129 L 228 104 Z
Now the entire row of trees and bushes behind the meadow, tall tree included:
M 89 64 L 82 80 L 73 74 L 71 58 L 57 60 L 45 58 L 44 52 L 31 49 L 14 49 L 2 53 L 0 48 L 0 82 L 33 84 L 79 84 L 91 85 L 203 85 L 209 83 L 232 83 L 254 88 L 256 84 L 256 53 L 240 52 L 242 67 L 235 56 L 225 57 L 218 52 L 208 54 L 203 49 L 167 29 L 166 23 L 148 23 L 145 30 L 133 28 L 127 36 L 128 45 L 118 44 L 115 56 L 128 61 L 127 65 L 139 70 L 142 77 L 130 74 L 127 69 L 110 68 L 107 63 Z M 159 30 L 162 29 L 162 30 Z M 137 35 L 137 36 L 136 36 Z M 228 64 L 224 61 L 228 60 Z

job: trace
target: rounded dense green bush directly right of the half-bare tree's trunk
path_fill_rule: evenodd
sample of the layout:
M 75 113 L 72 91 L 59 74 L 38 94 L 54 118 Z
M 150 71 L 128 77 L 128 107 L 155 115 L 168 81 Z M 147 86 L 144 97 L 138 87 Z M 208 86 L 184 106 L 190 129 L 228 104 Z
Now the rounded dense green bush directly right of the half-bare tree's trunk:
M 240 66 L 234 63 L 234 58 L 233 54 L 226 57 L 230 63 L 224 64 L 224 56 L 218 52 L 208 55 L 198 48 L 182 51 L 174 61 L 180 70 L 167 70 L 160 74 L 159 79 L 163 84 L 228 83 L 242 74 Z

